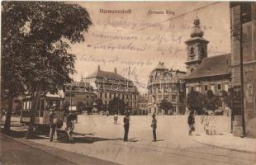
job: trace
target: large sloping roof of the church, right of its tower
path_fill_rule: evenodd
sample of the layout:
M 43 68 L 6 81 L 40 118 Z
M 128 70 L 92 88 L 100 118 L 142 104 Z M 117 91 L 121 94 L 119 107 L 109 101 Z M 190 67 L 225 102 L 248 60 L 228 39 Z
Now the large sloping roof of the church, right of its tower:
M 186 79 L 213 77 L 231 73 L 231 54 L 202 59 L 201 64 Z

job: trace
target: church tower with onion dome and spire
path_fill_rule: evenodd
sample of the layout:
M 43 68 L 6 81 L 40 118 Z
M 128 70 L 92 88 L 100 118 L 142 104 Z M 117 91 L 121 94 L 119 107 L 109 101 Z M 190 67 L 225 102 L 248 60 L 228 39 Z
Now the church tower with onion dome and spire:
M 185 41 L 187 45 L 187 75 L 191 74 L 199 64 L 201 60 L 207 57 L 207 44 L 208 40 L 204 39 L 202 36 L 204 31 L 200 28 L 200 20 L 196 16 L 194 20 L 194 27 L 191 33 L 191 38 Z

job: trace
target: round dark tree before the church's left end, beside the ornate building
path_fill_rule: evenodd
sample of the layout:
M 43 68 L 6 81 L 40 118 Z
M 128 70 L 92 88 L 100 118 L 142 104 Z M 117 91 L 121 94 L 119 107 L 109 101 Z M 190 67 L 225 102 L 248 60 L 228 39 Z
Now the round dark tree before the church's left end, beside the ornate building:
M 197 114 L 203 113 L 202 108 L 204 99 L 200 92 L 192 91 L 187 94 L 187 108 L 190 111 L 197 111 Z

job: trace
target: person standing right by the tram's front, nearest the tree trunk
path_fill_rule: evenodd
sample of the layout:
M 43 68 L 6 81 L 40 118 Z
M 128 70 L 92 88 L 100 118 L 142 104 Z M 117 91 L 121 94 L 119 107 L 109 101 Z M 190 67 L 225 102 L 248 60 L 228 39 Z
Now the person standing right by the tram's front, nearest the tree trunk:
M 53 141 L 54 135 L 55 135 L 55 139 L 57 139 L 57 118 L 55 115 L 55 108 L 51 107 L 50 108 L 50 115 L 49 115 L 49 125 L 50 125 L 50 142 Z

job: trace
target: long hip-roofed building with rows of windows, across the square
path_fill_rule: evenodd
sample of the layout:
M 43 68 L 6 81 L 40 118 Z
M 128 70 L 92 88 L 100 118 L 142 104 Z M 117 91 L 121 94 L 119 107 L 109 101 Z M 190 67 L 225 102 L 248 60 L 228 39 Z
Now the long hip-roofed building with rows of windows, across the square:
M 138 110 L 139 92 L 137 87 L 134 82 L 118 74 L 116 68 L 114 72 L 107 72 L 98 66 L 97 71 L 89 75 L 85 81 L 92 85 L 97 99 L 101 99 L 104 106 L 108 106 L 111 100 L 119 97 L 126 103 L 126 108 L 130 108 L 133 113 Z

